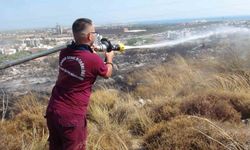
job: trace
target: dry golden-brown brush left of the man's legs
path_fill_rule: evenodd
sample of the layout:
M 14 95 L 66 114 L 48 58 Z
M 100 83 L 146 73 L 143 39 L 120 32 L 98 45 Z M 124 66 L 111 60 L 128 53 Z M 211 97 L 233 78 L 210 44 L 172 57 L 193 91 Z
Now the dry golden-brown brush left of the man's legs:
M 28 94 L 16 102 L 15 117 L 1 123 L 0 149 L 46 149 L 48 131 L 43 117 L 45 107 L 40 101 Z

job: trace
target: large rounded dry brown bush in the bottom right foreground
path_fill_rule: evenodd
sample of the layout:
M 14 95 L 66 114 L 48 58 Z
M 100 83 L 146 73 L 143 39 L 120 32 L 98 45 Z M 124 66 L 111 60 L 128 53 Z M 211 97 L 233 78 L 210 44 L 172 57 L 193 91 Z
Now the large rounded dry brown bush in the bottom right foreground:
M 239 143 L 232 135 L 207 119 L 179 116 L 152 127 L 144 136 L 144 148 L 148 150 L 243 150 L 246 149 L 246 145 Z

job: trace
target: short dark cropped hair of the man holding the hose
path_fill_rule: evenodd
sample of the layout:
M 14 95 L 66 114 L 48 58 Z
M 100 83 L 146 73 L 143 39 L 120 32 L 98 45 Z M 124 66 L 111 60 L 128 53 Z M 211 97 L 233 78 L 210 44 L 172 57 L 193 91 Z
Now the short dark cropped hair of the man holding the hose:
M 72 31 L 73 31 L 73 33 L 82 32 L 82 31 L 86 30 L 88 25 L 92 25 L 92 20 L 90 20 L 88 18 L 79 18 L 73 23 Z

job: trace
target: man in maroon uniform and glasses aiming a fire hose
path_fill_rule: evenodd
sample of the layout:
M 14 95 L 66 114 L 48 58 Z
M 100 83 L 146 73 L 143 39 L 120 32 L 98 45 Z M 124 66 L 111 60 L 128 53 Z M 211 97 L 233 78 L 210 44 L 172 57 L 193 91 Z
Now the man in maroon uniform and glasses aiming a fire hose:
M 106 63 L 91 47 L 96 38 L 92 21 L 77 19 L 72 25 L 75 42 L 62 49 L 59 75 L 46 111 L 50 150 L 85 150 L 86 111 L 97 76 L 112 74 L 114 52 L 105 53 Z

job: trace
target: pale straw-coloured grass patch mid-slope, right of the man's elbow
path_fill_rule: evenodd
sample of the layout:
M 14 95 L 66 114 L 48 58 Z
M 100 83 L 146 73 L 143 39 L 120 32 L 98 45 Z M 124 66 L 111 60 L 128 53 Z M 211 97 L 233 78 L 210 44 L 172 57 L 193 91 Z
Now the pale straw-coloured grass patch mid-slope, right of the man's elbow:
M 193 77 L 199 78 L 199 72 L 181 56 L 154 68 L 146 68 L 132 74 L 129 83 L 136 85 L 135 96 L 143 98 L 174 97 Z

